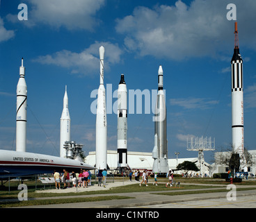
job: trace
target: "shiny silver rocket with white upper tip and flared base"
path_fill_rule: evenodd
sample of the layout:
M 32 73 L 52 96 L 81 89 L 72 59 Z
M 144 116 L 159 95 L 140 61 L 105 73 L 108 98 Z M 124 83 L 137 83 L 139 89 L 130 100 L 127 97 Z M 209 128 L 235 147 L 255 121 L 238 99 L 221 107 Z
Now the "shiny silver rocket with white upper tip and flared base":
M 158 92 L 154 112 L 154 148 L 152 151 L 154 159 L 154 173 L 168 173 L 168 149 L 166 137 L 166 102 L 163 94 L 163 69 L 161 65 L 158 70 Z

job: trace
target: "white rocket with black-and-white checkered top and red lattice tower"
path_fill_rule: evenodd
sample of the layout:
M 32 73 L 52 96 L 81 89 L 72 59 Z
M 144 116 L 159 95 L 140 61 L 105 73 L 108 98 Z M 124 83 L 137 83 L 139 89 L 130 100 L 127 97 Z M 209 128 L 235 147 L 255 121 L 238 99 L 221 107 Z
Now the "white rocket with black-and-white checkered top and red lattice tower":
M 232 148 L 243 156 L 243 60 L 239 52 L 237 22 L 234 23 L 234 54 L 231 60 Z

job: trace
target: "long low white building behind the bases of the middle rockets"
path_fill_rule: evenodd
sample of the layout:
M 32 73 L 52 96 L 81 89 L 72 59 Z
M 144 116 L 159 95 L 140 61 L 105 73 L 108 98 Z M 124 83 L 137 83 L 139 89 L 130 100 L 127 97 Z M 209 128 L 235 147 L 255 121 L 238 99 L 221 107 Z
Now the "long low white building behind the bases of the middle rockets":
M 107 151 L 107 164 L 109 169 L 115 170 L 118 167 L 117 160 L 117 151 Z M 195 162 L 195 165 L 200 168 L 200 163 L 198 162 L 198 157 L 193 158 L 178 158 L 178 159 L 168 159 L 169 169 L 173 171 L 176 169 L 177 164 L 181 164 L 184 161 Z M 152 170 L 154 159 L 152 158 L 152 153 L 143 153 L 143 152 L 127 152 L 127 163 L 130 169 L 147 169 Z M 86 163 L 91 166 L 95 166 L 95 151 L 89 152 L 88 156 L 86 156 Z M 209 175 L 208 170 L 209 164 L 205 162 L 202 164 L 202 173 Z M 175 171 L 175 173 L 182 173 L 182 171 Z M 200 173 L 193 172 L 193 173 Z

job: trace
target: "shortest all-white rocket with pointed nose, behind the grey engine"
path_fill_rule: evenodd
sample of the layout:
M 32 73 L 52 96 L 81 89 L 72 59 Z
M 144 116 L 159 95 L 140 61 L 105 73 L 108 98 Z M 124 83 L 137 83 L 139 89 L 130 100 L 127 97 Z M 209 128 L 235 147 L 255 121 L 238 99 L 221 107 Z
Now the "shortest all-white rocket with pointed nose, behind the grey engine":
M 60 133 L 60 157 L 66 157 L 64 144 L 70 141 L 70 112 L 68 111 L 67 86 L 63 98 L 63 111 L 61 114 L 61 133 Z

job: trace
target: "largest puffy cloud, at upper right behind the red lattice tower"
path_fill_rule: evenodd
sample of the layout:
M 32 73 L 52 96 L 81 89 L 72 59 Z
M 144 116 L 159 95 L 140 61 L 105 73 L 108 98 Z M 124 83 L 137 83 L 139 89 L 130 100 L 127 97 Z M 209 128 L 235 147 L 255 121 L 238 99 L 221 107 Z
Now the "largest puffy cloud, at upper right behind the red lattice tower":
M 242 44 L 256 49 L 256 31 L 252 28 L 256 1 L 232 3 L 237 6 Z M 127 49 L 141 56 L 218 58 L 218 50 L 229 49 L 234 41 L 234 21 L 227 20 L 226 6 L 223 0 L 195 0 L 190 6 L 179 0 L 175 6 L 157 5 L 153 9 L 139 6 L 132 15 L 117 19 L 115 29 L 125 35 Z

